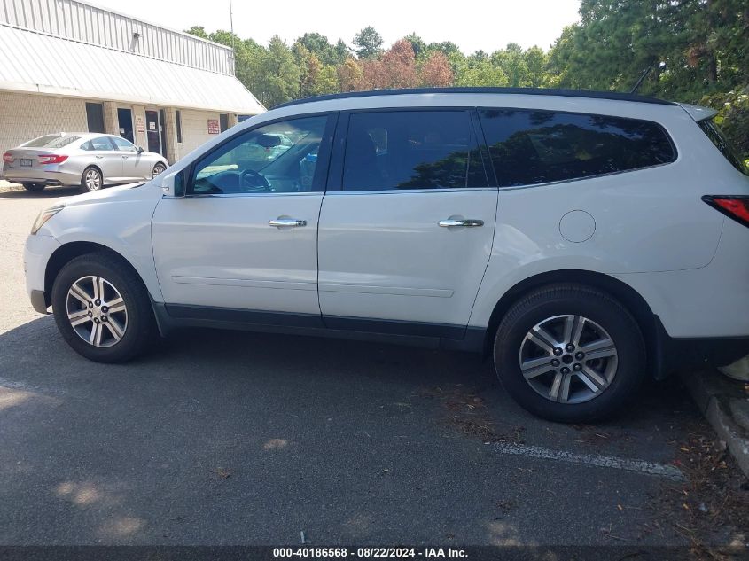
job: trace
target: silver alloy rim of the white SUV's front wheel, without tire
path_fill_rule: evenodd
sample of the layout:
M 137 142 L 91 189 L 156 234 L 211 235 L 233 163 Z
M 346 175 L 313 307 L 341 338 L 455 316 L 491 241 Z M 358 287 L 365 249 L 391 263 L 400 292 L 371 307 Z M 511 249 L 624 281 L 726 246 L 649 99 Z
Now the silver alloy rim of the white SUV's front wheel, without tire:
M 128 329 L 125 300 L 104 277 L 75 281 L 67 291 L 66 312 L 73 330 L 94 347 L 116 345 Z

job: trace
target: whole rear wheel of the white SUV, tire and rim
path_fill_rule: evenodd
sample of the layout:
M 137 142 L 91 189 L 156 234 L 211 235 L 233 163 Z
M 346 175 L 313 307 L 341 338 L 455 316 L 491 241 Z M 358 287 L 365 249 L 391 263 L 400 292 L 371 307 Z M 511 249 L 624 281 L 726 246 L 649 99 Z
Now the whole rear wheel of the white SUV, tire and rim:
M 521 407 L 560 423 L 612 417 L 635 395 L 646 368 L 635 318 L 581 284 L 550 285 L 516 302 L 496 332 L 494 359 L 497 377 Z

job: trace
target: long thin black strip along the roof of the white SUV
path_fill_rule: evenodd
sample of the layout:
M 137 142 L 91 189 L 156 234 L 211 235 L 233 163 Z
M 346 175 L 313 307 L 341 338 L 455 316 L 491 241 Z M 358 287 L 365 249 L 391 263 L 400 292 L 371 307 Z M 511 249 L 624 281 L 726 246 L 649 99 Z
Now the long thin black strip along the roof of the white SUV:
M 594 91 L 594 90 L 552 90 L 550 88 L 404 88 L 401 90 L 370 90 L 349 91 L 339 94 L 328 94 L 326 96 L 305 97 L 295 99 L 279 105 L 300 105 L 313 101 L 326 101 L 328 99 L 347 99 L 349 97 L 371 97 L 371 96 L 397 96 L 401 94 L 424 94 L 424 93 L 491 93 L 491 94 L 523 94 L 529 96 L 563 96 L 563 97 L 589 97 L 592 99 L 614 99 L 617 101 L 636 101 L 638 103 L 651 103 L 657 105 L 676 105 L 671 101 L 658 99 L 656 97 L 638 96 L 636 94 L 620 93 L 616 91 Z

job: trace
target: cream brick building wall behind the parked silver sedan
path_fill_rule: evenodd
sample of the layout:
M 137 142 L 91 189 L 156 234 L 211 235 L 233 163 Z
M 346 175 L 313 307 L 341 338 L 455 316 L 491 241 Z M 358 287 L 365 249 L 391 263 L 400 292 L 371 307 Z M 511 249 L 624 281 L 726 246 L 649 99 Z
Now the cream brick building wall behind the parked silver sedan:
M 83 99 L 0 91 L 0 153 L 36 136 L 88 129 Z

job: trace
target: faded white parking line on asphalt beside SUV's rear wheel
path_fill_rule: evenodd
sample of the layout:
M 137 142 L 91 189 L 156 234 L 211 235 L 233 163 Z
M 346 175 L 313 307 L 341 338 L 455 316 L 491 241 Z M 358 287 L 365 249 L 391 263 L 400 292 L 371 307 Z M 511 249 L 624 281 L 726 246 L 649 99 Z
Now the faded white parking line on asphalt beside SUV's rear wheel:
M 573 452 L 561 452 L 542 448 L 540 446 L 526 446 L 524 444 L 509 444 L 496 442 L 496 452 L 510 454 L 512 456 L 529 456 L 542 460 L 557 460 L 567 464 L 581 464 L 590 467 L 605 467 L 614 470 L 636 471 L 645 475 L 655 475 L 674 481 L 684 481 L 684 474 L 674 465 L 656 464 L 644 460 L 630 460 L 616 456 L 601 456 L 599 454 L 575 454 Z

